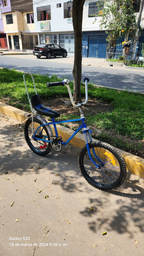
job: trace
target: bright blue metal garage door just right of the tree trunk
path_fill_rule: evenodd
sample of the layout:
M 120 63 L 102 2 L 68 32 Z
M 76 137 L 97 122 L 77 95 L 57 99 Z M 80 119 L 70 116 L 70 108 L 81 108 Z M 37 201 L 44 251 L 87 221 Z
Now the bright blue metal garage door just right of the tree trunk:
M 90 35 L 88 57 L 106 58 L 106 35 Z

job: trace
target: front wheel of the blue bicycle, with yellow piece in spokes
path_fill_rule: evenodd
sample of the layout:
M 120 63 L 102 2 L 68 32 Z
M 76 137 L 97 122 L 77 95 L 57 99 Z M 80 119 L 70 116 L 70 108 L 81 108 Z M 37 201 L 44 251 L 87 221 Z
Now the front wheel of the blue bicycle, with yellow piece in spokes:
M 101 190 L 121 186 L 127 171 L 125 161 L 118 151 L 113 146 L 100 141 L 89 143 L 89 150 L 92 160 L 86 145 L 78 157 L 79 168 L 88 183 Z

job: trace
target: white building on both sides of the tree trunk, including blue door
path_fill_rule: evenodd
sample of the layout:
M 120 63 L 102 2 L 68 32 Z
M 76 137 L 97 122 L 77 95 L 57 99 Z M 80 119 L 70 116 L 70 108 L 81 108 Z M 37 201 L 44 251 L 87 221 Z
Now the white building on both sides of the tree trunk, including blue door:
M 96 10 L 97 9 L 97 10 Z M 35 32 L 38 33 L 39 43 L 55 42 L 65 48 L 68 55 L 74 55 L 74 29 L 73 29 L 73 3 L 65 0 L 58 2 L 57 0 L 38 1 L 33 0 Z M 85 1 L 83 10 L 83 55 L 87 56 L 88 44 L 92 44 L 93 54 L 98 55 L 98 45 L 104 42 L 104 50 L 106 52 L 106 34 L 100 31 L 99 19 L 94 22 L 95 17 L 90 15 L 93 11 L 98 11 L 97 1 Z M 96 33 L 95 32 L 99 32 Z M 89 32 L 89 33 L 88 33 Z M 93 37 L 94 36 L 94 37 Z M 99 37 L 98 44 L 93 45 L 93 40 Z M 89 39 L 88 39 L 89 37 Z M 106 54 L 106 53 L 105 53 Z

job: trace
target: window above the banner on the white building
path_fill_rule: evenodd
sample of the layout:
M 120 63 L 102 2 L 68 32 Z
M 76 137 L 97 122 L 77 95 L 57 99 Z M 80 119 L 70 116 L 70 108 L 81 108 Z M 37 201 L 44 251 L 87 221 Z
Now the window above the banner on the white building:
M 37 7 L 37 21 L 50 20 L 51 19 L 51 6 Z

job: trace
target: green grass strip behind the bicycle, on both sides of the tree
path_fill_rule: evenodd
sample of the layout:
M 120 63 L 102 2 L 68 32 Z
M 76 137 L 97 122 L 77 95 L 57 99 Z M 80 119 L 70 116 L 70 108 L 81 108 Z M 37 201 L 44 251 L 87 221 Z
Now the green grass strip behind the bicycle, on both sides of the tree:
M 23 73 L 15 70 L 0 70 L 0 99 L 16 108 L 30 111 L 25 83 L 23 82 Z M 66 87 L 47 88 L 46 82 L 59 81 L 56 75 L 51 77 L 42 75 L 33 75 L 36 84 L 37 93 L 41 99 L 52 99 L 55 97 L 68 97 Z M 30 97 L 35 94 L 33 82 L 30 76 L 26 76 L 26 83 Z M 73 90 L 73 83 L 70 83 Z M 81 95 L 85 96 L 83 84 L 81 86 Z M 142 140 L 144 137 L 144 100 L 141 93 L 130 93 L 128 91 L 118 92 L 117 90 L 108 90 L 106 88 L 97 88 L 88 83 L 88 96 L 112 105 L 111 112 L 104 112 L 97 115 L 87 115 L 88 125 L 94 125 L 102 130 L 114 131 L 117 134 L 128 136 L 132 139 Z M 56 109 L 56 106 L 55 106 Z M 63 118 L 63 117 L 62 117 Z M 73 119 L 67 116 L 68 119 Z

